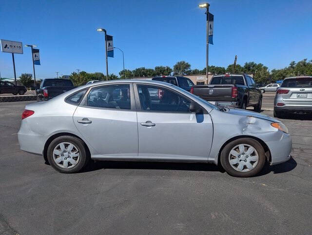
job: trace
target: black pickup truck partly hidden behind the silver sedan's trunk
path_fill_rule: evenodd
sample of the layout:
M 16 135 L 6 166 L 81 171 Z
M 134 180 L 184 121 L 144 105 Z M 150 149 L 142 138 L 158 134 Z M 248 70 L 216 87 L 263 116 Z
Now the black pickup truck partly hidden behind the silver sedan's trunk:
M 73 82 L 69 79 L 43 79 L 40 88 L 36 90 L 37 101 L 49 100 L 74 88 Z

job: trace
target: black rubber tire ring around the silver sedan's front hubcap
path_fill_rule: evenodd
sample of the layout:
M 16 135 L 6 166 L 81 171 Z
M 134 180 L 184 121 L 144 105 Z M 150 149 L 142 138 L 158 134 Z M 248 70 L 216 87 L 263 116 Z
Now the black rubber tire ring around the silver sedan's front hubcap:
M 230 151 L 239 144 L 248 144 L 257 151 L 258 153 L 258 163 L 255 165 L 254 169 L 247 172 L 240 172 L 235 170 L 229 161 Z M 262 145 L 253 138 L 239 138 L 235 139 L 232 142 L 228 143 L 221 152 L 220 162 L 223 169 L 231 176 L 235 177 L 251 177 L 257 175 L 263 168 L 264 163 L 266 161 L 265 152 Z

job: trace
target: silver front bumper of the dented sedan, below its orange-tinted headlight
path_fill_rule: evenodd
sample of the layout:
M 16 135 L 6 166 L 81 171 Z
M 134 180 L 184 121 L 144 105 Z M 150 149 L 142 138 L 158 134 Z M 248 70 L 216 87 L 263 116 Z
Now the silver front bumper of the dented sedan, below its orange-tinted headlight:
M 274 141 L 265 142 L 271 153 L 270 164 L 276 165 L 291 158 L 292 137 L 289 134 L 282 133 L 281 137 Z

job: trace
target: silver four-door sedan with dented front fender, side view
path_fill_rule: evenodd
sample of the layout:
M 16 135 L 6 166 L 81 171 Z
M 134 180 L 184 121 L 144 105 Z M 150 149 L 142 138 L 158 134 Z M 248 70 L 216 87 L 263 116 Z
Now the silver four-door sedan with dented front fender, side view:
M 151 90 L 162 97 L 153 100 Z M 232 176 L 290 159 L 292 139 L 278 119 L 216 107 L 175 85 L 142 79 L 81 86 L 25 107 L 23 151 L 43 155 L 61 173 L 89 159 L 219 162 Z

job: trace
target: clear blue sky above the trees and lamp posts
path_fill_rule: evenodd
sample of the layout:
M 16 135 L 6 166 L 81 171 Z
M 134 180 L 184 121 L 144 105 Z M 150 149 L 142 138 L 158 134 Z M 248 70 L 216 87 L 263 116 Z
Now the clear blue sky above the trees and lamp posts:
M 36 44 L 36 77 L 76 69 L 105 74 L 105 28 L 125 53 L 126 69 L 173 66 L 185 60 L 205 67 L 205 15 L 200 0 L 1 0 L 0 39 Z M 210 0 L 215 15 L 209 65 L 261 62 L 270 69 L 312 59 L 312 0 Z M 31 50 L 15 55 L 17 76 L 32 73 Z M 122 56 L 109 58 L 109 73 Z M 13 77 L 12 56 L 0 53 L 1 77 Z

